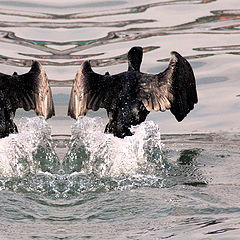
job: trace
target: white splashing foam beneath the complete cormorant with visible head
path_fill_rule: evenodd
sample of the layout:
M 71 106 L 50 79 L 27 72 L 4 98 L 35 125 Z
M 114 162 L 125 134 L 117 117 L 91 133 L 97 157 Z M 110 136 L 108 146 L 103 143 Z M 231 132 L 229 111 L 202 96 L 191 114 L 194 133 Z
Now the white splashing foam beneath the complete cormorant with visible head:
M 103 129 L 104 122 L 100 118 L 89 117 L 79 118 L 72 127 L 72 145 L 88 153 L 82 173 L 136 177 L 143 169 L 146 174 L 146 165 L 150 170 L 153 162 L 161 162 L 160 131 L 154 122 L 146 121 L 133 127 L 134 135 L 124 139 L 104 134 Z

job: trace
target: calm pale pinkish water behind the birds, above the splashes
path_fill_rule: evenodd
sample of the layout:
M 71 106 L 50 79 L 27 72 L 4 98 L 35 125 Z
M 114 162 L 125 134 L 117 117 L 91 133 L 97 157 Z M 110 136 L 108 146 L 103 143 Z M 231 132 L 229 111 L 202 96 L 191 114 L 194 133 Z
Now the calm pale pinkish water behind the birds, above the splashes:
M 99 7 L 99 11 L 87 7 L 88 2 L 74 9 L 63 2 L 55 11 L 54 4 L 49 3 L 45 11 L 47 3 L 36 8 L 38 2 L 31 5 L 26 1 L 18 3 L 28 8 L 22 5 L 22 11 L 16 11 L 15 3 L 1 3 L 0 67 L 6 73 L 23 73 L 32 59 L 45 66 L 54 98 L 64 94 L 66 99 L 64 104 L 57 103 L 57 117 L 50 120 L 54 133 L 70 134 L 73 121 L 66 117 L 67 99 L 82 61 L 90 59 L 100 73 L 124 71 L 126 53 L 134 45 L 144 47 L 142 71 L 163 71 L 172 50 L 189 59 L 194 68 L 199 83 L 195 111 L 181 124 L 169 113 L 153 112 L 148 117 L 159 122 L 164 133 L 239 130 L 234 120 L 239 111 L 230 110 L 239 106 L 239 83 L 235 78 L 239 75 L 240 15 L 239 9 L 231 8 L 235 1 L 106 1 L 111 6 Z M 212 101 L 211 88 L 217 101 Z M 59 117 L 61 125 L 66 126 L 62 130 L 58 127 Z

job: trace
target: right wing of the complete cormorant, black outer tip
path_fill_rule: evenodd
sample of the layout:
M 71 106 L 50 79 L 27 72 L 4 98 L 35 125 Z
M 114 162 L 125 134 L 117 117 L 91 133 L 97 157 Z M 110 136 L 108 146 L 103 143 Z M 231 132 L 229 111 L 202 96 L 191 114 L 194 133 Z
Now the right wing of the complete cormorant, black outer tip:
M 176 119 L 182 121 L 198 101 L 196 83 L 189 62 L 177 52 L 171 54 L 164 72 L 142 75 L 138 98 L 148 111 L 170 109 Z

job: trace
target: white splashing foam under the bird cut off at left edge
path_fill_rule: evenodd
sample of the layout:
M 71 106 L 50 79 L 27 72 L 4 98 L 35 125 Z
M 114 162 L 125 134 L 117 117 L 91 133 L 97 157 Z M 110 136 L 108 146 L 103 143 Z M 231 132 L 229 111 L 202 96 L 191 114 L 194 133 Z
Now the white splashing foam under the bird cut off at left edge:
M 23 176 L 36 171 L 33 153 L 45 137 L 50 136 L 50 127 L 43 117 L 22 118 L 18 134 L 0 139 L 0 176 Z

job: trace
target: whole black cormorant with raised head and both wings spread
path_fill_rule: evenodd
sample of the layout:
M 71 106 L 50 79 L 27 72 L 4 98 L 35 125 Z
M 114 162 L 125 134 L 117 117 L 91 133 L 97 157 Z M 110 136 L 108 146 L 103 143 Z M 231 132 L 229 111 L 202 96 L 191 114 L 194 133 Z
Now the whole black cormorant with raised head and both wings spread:
M 128 52 L 128 71 L 116 75 L 95 73 L 89 61 L 78 70 L 71 91 L 68 115 L 78 118 L 89 109 L 107 110 L 106 133 L 123 138 L 131 126 L 145 121 L 151 110 L 169 109 L 182 121 L 197 103 L 193 70 L 177 52 L 171 52 L 168 68 L 159 74 L 140 72 L 143 49 Z

